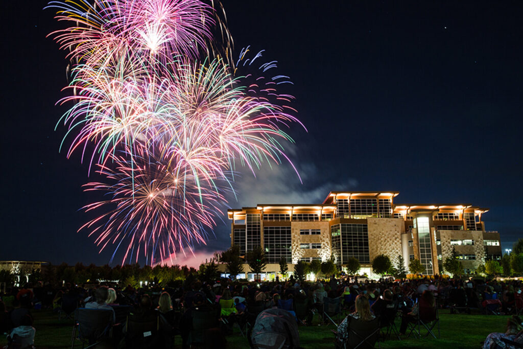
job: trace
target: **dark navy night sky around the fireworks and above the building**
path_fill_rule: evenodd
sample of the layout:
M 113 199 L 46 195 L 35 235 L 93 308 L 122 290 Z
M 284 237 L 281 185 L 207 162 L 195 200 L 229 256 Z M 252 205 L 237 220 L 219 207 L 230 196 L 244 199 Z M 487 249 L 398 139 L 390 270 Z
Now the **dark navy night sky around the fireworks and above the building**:
M 0 260 L 109 261 L 76 230 L 87 167 L 59 153 L 65 52 L 45 2 L 2 2 Z M 288 166 L 244 174 L 232 207 L 397 190 L 399 203 L 488 207 L 503 248 L 523 237 L 520 1 L 224 1 L 236 52 L 251 45 L 290 76 L 308 132 Z M 280 179 L 281 181 L 278 181 Z M 281 183 L 280 183 L 281 182 Z M 267 194 L 265 196 L 256 193 Z M 273 193 L 274 195 L 270 195 Z M 229 223 L 202 250 L 225 249 Z

